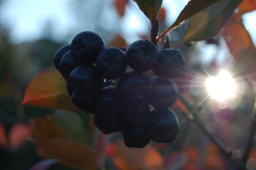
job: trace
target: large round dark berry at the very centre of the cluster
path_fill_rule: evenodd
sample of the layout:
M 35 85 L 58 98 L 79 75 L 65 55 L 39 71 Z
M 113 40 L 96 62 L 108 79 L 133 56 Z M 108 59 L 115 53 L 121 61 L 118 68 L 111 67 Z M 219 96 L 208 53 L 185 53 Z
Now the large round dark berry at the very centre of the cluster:
M 148 103 L 151 95 L 150 80 L 142 72 L 130 71 L 123 74 L 116 88 L 120 98 L 132 107 Z

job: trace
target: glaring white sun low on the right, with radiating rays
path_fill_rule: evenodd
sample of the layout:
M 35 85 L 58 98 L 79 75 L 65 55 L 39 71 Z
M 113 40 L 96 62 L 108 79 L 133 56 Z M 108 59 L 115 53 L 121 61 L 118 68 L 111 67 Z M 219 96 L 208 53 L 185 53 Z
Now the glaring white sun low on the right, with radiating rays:
M 218 101 L 232 99 L 237 92 L 237 84 L 226 70 L 221 70 L 218 76 L 208 77 L 206 88 L 210 97 Z

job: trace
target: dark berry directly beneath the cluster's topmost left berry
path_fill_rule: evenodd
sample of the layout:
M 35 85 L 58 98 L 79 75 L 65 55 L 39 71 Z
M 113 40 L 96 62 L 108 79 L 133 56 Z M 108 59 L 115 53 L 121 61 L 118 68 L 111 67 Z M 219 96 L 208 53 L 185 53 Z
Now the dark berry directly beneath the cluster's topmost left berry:
M 104 78 L 99 75 L 94 65 L 76 67 L 69 75 L 69 82 L 78 98 L 95 96 L 104 87 Z

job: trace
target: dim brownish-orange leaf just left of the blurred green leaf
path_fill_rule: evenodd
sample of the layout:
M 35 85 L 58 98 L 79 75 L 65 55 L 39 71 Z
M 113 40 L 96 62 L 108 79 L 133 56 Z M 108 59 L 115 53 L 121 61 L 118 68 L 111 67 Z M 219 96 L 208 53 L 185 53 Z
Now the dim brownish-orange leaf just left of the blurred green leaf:
M 35 119 L 35 136 L 37 139 L 45 140 L 66 135 L 51 121 L 50 117 Z

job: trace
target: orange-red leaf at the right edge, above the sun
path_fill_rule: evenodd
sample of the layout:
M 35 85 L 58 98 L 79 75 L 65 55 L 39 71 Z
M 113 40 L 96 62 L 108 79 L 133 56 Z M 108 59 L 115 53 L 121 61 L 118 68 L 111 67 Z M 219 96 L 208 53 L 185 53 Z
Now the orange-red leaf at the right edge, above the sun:
M 235 73 L 256 79 L 256 49 L 250 34 L 245 29 L 242 16 L 233 14 L 222 31 L 230 53 L 236 59 Z

